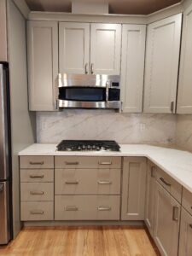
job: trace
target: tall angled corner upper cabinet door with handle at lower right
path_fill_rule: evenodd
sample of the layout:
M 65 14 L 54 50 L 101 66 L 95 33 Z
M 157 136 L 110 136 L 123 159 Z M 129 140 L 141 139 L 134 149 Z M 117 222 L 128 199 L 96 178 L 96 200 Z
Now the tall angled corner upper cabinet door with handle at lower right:
M 175 113 L 182 14 L 148 25 L 144 112 Z

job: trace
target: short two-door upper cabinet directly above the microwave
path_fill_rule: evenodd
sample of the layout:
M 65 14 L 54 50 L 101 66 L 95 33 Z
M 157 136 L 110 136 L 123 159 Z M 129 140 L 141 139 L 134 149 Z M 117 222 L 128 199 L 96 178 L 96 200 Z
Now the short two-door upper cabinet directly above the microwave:
M 59 24 L 60 73 L 118 75 L 120 49 L 119 24 Z

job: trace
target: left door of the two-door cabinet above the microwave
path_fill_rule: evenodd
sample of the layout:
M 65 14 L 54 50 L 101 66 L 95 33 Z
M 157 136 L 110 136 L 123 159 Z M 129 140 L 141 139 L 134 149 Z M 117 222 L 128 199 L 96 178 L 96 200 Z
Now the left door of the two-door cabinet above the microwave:
M 90 60 L 90 24 L 61 22 L 59 25 L 60 73 L 86 73 Z

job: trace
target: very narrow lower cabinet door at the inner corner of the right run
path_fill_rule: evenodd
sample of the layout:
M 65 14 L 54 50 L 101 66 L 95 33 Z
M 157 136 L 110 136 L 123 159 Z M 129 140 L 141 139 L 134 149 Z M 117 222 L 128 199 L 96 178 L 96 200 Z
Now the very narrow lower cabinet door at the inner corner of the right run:
M 147 182 L 146 182 L 146 198 L 145 198 L 145 224 L 151 236 L 154 236 L 154 185 L 155 185 L 155 169 L 156 166 L 148 161 L 147 166 Z

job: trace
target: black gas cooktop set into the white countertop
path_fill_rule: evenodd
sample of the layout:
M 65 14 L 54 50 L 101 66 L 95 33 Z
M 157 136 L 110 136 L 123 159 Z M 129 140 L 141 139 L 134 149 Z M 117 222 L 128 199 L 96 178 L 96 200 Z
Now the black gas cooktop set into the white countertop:
M 56 146 L 58 151 L 119 151 L 115 141 L 63 140 Z

